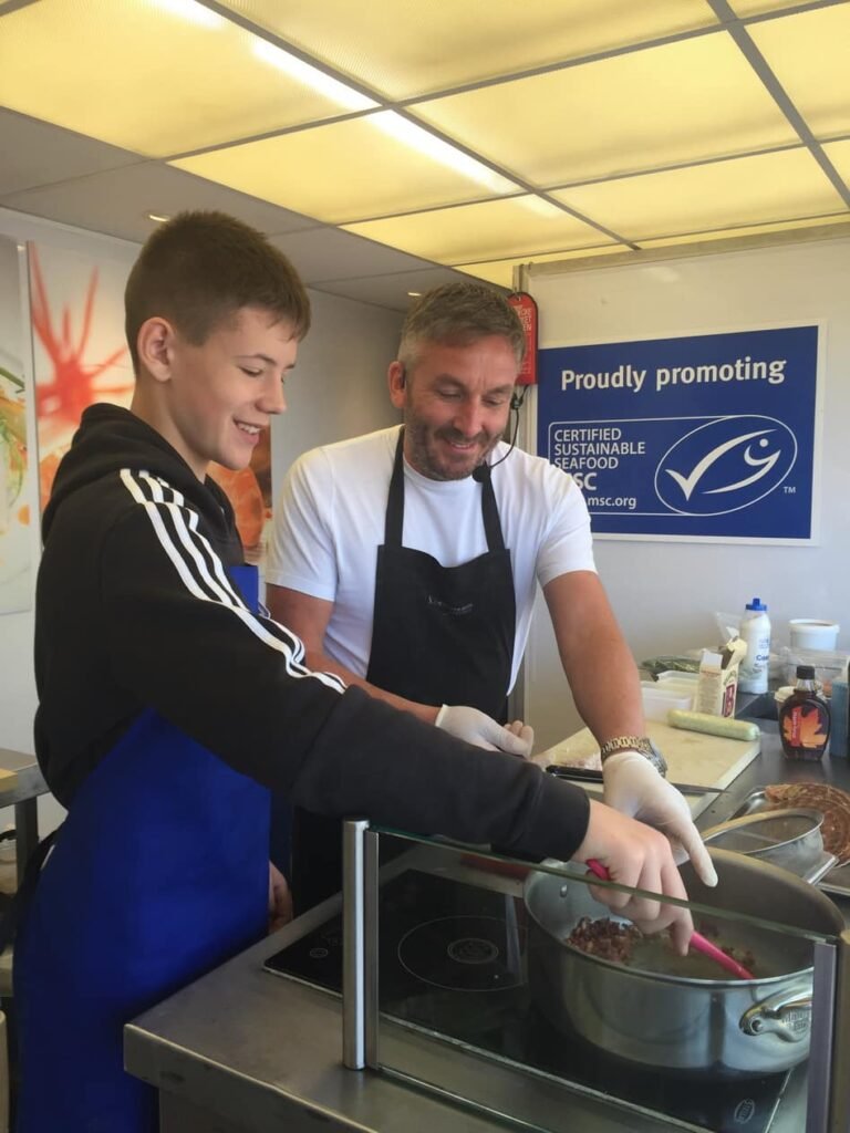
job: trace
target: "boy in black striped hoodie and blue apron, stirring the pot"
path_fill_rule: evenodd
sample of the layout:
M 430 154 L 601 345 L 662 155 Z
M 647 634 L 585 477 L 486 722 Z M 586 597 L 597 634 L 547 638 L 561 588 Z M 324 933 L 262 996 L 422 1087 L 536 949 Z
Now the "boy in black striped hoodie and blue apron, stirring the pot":
M 269 787 L 683 896 L 663 835 L 311 672 L 256 613 L 206 468 L 245 467 L 284 408 L 309 323 L 287 259 L 231 218 L 177 216 L 142 249 L 126 315 L 131 408 L 86 410 L 44 513 L 35 735 L 68 817 L 16 944 L 18 1133 L 156 1127 L 122 1025 L 265 931 Z M 687 911 L 634 913 L 687 947 Z

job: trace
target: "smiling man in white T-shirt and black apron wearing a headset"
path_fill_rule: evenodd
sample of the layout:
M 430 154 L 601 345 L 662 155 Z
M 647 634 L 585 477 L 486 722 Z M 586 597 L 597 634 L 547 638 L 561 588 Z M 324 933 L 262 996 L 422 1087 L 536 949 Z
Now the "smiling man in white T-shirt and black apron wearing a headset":
M 414 304 L 388 372 L 403 429 L 296 461 L 277 510 L 270 608 L 312 666 L 476 743 L 492 724 L 479 713 L 503 718 L 539 581 L 576 704 L 603 746 L 605 801 L 664 829 L 714 884 L 644 736 L 635 662 L 595 572 L 581 493 L 501 441 L 524 349 L 516 313 L 483 284 Z M 303 906 L 333 888 L 337 840 L 328 824 L 296 818 Z

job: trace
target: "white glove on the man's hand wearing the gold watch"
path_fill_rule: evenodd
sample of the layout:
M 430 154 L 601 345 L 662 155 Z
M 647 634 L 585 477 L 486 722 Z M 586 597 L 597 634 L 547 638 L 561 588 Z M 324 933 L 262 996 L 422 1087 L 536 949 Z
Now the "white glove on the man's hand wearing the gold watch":
M 637 751 L 618 751 L 605 760 L 602 776 L 603 798 L 609 807 L 666 834 L 679 864 L 690 858 L 704 885 L 717 884 L 712 859 L 694 825 L 685 796 L 658 774 L 645 756 Z

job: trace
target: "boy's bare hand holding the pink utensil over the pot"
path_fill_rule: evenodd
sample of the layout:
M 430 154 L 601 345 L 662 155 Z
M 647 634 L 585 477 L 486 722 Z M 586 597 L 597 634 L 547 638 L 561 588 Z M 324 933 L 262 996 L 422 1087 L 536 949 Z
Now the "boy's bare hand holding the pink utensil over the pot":
M 604 803 L 593 801 L 585 840 L 572 860 L 587 861 L 590 858 L 607 869 L 612 881 L 687 900 L 672 847 L 664 835 Z M 669 928 L 677 951 L 682 956 L 687 954 L 694 931 L 689 910 L 615 889 L 593 886 L 592 892 L 597 901 L 618 915 L 634 921 L 643 932 L 652 935 Z

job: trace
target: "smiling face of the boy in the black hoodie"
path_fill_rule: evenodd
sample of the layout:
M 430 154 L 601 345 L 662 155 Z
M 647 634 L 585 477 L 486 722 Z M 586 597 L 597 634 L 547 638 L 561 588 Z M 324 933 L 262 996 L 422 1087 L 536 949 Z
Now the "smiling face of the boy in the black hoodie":
M 283 412 L 283 381 L 298 340 L 286 321 L 243 307 L 199 346 L 175 332 L 161 432 L 203 479 L 211 460 L 245 468 L 273 414 Z

